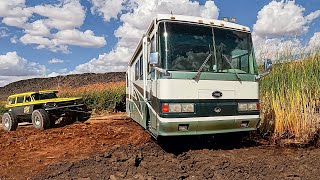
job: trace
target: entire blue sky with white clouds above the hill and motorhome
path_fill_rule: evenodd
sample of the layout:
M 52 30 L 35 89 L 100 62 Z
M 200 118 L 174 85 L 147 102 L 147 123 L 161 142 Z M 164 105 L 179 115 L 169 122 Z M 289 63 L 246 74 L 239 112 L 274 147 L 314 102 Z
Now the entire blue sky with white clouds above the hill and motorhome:
M 158 3 L 161 12 L 236 17 L 253 30 L 256 49 L 266 44 L 270 49 L 279 44 L 301 48 L 319 39 L 320 0 Z M 123 71 L 153 11 L 147 0 L 0 0 L 0 86 L 31 77 Z M 35 22 L 40 25 L 33 26 Z

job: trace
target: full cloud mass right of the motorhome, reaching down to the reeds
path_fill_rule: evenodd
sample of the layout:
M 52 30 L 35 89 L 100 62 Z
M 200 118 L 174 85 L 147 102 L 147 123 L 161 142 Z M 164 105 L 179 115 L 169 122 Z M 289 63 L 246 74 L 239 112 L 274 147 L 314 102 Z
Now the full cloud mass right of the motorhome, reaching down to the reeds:
M 320 10 L 304 15 L 305 8 L 295 1 L 272 1 L 258 13 L 252 38 L 258 61 L 291 59 L 307 52 L 299 40 Z

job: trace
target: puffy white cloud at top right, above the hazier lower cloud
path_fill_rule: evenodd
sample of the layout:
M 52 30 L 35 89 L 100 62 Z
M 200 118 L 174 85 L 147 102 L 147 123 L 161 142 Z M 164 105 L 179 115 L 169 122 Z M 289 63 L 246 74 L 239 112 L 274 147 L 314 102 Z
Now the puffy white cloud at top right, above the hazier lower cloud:
M 320 11 L 304 16 L 305 8 L 295 1 L 272 1 L 258 13 L 253 31 L 260 37 L 297 36 L 308 31 L 308 24 Z

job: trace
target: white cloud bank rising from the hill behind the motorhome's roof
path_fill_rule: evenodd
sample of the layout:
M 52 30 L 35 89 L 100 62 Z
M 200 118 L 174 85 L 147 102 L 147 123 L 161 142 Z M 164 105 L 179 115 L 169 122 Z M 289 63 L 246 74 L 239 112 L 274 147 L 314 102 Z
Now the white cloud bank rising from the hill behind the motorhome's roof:
M 159 3 L 158 6 L 156 2 Z M 172 11 L 173 14 L 207 18 L 217 18 L 219 15 L 214 1 L 200 5 L 199 2 L 190 0 L 130 0 L 125 9 L 127 12 L 120 17 L 122 25 L 115 31 L 115 36 L 119 39 L 115 48 L 77 66 L 71 73 L 124 71 L 137 43 L 157 12 L 169 14 Z

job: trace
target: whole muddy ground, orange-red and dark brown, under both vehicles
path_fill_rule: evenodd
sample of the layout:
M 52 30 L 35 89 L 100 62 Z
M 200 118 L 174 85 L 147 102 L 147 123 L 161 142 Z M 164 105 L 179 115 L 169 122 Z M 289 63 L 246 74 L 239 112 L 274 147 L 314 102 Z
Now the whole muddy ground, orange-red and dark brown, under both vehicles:
M 100 118 L 103 119 L 103 118 Z M 0 131 L 0 179 L 319 179 L 320 149 L 179 139 L 156 143 L 130 120 Z

